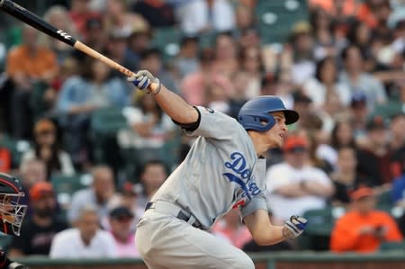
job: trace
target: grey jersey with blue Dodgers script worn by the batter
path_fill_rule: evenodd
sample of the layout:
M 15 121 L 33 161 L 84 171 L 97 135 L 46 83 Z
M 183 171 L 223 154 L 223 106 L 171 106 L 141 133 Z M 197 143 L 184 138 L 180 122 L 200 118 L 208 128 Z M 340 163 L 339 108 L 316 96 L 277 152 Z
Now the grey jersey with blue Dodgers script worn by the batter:
M 203 229 L 235 207 L 242 217 L 267 211 L 266 159 L 257 158 L 247 131 L 222 112 L 197 109 L 200 124 L 185 133 L 198 138 L 152 201 L 175 203 L 192 213 Z

